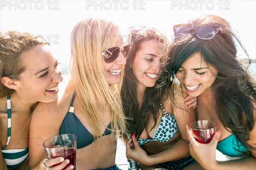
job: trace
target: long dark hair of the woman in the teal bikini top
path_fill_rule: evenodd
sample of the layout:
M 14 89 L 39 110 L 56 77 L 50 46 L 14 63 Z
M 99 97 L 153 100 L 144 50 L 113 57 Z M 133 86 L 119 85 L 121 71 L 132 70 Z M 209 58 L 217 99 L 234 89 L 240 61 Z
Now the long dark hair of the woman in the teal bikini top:
M 211 40 L 202 40 L 195 32 L 175 37 L 169 49 L 170 62 L 166 70 L 175 77 L 184 61 L 200 53 L 202 59 L 218 71 L 212 84 L 215 111 L 225 129 L 235 134 L 247 148 L 247 152 L 239 152 L 249 155 L 249 149 L 256 149 L 247 143 L 250 139 L 249 133 L 255 124 L 253 103 L 256 101 L 256 88 L 255 80 L 247 68 L 237 60 L 235 41 L 240 44 L 246 55 L 247 52 L 225 19 L 216 15 L 206 15 L 189 20 L 189 23 L 193 26 L 215 24 L 221 26 L 223 32 L 217 33 Z M 249 58 L 248 55 L 247 57 Z

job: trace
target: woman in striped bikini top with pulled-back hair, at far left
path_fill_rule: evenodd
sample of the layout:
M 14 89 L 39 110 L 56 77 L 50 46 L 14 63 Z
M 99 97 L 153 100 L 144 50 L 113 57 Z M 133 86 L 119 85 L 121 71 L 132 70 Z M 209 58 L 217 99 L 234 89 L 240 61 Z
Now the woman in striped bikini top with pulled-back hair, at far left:
M 28 32 L 0 33 L 0 169 L 29 169 L 29 120 L 58 99 L 63 79 L 49 43 Z

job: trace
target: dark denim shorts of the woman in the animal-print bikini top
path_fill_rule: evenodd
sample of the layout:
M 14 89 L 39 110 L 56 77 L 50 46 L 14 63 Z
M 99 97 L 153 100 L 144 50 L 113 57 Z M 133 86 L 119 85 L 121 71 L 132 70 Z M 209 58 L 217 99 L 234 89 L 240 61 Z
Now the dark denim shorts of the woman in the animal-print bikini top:
M 165 162 L 159 165 L 168 170 L 181 170 L 182 168 L 192 164 L 198 164 L 198 162 L 192 156 L 188 156 L 186 158 Z

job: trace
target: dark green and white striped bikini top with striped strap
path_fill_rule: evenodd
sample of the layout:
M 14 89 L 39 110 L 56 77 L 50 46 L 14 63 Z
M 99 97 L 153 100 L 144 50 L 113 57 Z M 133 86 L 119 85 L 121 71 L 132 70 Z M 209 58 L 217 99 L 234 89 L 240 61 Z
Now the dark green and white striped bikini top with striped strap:
M 6 145 L 2 148 L 3 158 L 6 162 L 7 169 L 12 169 L 23 164 L 29 157 L 29 148 L 26 149 L 8 149 L 5 150 L 11 139 L 11 125 L 12 125 L 12 114 L 11 114 L 11 96 L 7 96 L 7 116 L 8 116 L 8 139 Z

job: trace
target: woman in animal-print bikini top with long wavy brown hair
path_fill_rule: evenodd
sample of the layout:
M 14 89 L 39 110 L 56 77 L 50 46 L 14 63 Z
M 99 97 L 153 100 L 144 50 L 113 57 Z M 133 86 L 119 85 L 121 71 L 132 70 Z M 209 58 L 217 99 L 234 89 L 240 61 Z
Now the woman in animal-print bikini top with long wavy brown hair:
M 195 164 L 183 140 L 185 125 L 196 119 L 188 105 L 195 107 L 195 98 L 187 97 L 185 105 L 183 93 L 176 89 L 179 98 L 174 102 L 166 94 L 166 77 L 159 79 L 169 42 L 154 28 L 135 26 L 130 30 L 131 53 L 121 90 L 129 132 L 124 138 L 132 137 L 126 144 L 126 156 L 139 162 L 143 170 L 166 166 L 180 170 Z

